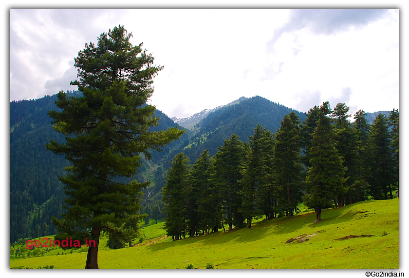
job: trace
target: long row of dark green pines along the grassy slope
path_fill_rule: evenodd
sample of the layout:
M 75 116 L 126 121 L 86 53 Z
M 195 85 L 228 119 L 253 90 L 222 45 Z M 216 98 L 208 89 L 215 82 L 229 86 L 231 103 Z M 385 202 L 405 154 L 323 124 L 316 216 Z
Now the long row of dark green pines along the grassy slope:
M 165 228 L 173 240 L 251 228 L 253 218 L 291 218 L 297 205 L 321 210 L 368 199 L 391 199 L 399 189 L 399 112 L 373 123 L 363 110 L 350 121 L 349 107 L 329 102 L 311 108 L 301 122 L 293 111 L 276 134 L 260 124 L 244 143 L 236 134 L 211 157 L 190 164 L 170 161 L 162 189 Z M 245 221 L 246 220 L 246 221 Z

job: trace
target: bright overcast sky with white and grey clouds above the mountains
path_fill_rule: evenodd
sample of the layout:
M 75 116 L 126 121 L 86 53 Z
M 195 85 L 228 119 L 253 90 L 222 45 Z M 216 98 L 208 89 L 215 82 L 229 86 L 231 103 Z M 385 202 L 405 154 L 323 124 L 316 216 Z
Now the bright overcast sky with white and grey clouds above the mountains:
M 399 108 L 390 9 L 11 9 L 10 101 L 76 89 L 78 51 L 119 24 L 164 66 L 151 103 L 169 117 L 256 95 L 303 112 Z

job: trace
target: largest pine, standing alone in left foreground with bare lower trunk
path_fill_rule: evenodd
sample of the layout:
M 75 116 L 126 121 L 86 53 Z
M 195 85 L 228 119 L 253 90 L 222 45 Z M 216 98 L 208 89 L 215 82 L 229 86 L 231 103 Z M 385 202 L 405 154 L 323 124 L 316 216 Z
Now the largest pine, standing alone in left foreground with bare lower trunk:
M 86 43 L 75 58 L 79 81 L 71 82 L 83 95 L 61 91 L 56 101 L 61 112 L 49 112 L 66 143 L 51 140 L 47 148 L 72 163 L 66 168 L 70 174 L 60 178 L 68 197 L 66 212 L 53 223 L 62 235 L 95 240 L 86 268 L 98 268 L 100 232 L 120 227 L 137 214 L 140 189 L 149 185 L 115 178 L 133 177 L 142 165 L 139 153 L 149 159 L 148 149 L 159 151 L 183 134 L 177 128 L 149 132 L 158 118 L 152 117 L 155 107 L 146 102 L 153 93 L 152 79 L 162 67 L 153 66 L 142 44 L 132 46 L 131 36 L 119 26 L 101 34 L 97 46 Z

